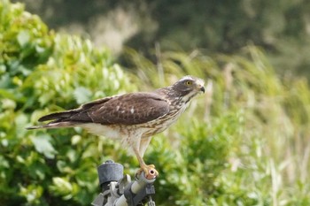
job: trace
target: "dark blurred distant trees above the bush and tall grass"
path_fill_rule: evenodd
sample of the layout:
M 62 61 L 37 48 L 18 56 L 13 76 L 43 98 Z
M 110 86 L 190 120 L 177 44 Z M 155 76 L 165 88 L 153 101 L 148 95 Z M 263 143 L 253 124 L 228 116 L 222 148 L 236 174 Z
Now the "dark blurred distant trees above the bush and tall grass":
M 114 50 L 125 42 L 150 54 L 154 42 L 159 42 L 164 50 L 201 48 L 232 54 L 253 43 L 267 51 L 277 72 L 294 72 L 310 80 L 308 0 L 75 0 L 76 6 L 64 0 L 19 2 L 50 27 L 83 30 L 97 42 L 116 32 L 105 40 L 118 42 L 112 45 Z

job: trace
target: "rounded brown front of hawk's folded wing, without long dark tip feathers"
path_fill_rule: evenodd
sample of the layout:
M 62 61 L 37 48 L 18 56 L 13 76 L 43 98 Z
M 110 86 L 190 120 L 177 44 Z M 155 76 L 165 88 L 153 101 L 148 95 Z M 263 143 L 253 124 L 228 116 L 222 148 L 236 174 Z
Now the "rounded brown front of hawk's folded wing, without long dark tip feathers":
M 136 125 L 162 117 L 169 103 L 155 93 L 131 93 L 115 96 L 105 103 L 93 105 L 87 112 L 95 123 L 104 125 Z

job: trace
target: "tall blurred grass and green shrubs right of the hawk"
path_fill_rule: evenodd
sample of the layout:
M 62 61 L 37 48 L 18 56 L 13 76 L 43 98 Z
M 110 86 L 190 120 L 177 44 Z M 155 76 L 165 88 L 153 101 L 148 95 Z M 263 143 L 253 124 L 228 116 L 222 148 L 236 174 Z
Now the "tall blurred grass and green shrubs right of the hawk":
M 152 142 L 151 160 L 159 161 L 161 172 L 157 187 L 164 191 L 156 196 L 158 202 L 308 204 L 310 92 L 305 79 L 279 79 L 264 52 L 252 46 L 235 56 L 157 52 L 156 64 L 135 50 L 127 50 L 126 57 L 141 80 L 156 86 L 187 73 L 207 80 L 205 97 L 191 103 L 163 135 L 169 138 Z M 147 78 L 155 76 L 151 82 Z

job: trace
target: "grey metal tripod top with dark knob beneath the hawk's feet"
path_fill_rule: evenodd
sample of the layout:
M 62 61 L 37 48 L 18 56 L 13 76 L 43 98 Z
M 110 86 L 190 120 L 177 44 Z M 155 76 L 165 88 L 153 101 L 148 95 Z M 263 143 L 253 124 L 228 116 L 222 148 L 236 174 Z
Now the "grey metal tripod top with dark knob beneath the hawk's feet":
M 94 206 L 155 206 L 151 195 L 155 194 L 153 186 L 156 177 L 145 178 L 144 172 L 134 181 L 128 174 L 123 175 L 123 166 L 106 161 L 97 168 L 102 193 L 91 203 Z

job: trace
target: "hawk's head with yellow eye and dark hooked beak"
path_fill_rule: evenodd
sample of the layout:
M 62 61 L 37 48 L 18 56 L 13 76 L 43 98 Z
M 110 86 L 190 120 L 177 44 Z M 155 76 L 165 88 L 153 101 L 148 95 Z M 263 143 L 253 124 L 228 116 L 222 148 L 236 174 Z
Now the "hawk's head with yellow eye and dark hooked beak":
M 184 102 L 189 102 L 192 97 L 205 93 L 205 81 L 193 76 L 185 76 L 172 86 L 173 90 L 182 97 Z

